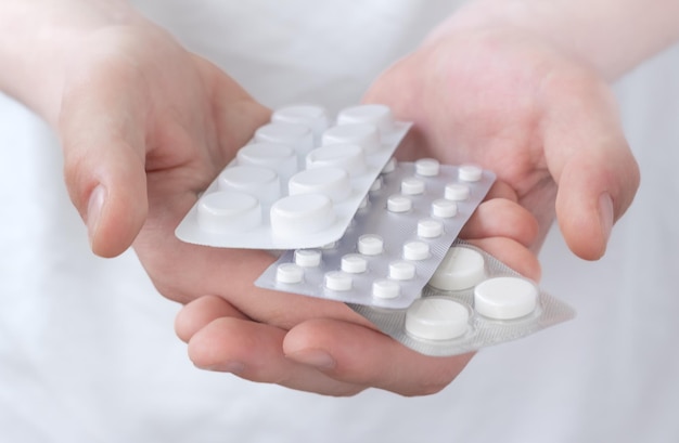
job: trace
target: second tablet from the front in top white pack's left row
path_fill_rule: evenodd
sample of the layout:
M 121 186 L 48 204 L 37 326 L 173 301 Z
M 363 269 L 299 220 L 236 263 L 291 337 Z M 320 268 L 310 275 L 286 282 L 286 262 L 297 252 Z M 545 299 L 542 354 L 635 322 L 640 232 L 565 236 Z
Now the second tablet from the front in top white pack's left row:
M 276 171 L 259 166 L 232 166 L 219 174 L 220 190 L 240 191 L 252 194 L 262 204 L 281 197 L 281 182 Z

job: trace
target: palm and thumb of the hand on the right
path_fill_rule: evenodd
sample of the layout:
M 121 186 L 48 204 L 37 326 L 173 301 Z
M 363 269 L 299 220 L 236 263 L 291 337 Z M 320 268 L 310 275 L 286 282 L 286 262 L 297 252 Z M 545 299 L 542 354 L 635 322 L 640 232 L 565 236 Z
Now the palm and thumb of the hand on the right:
M 445 29 L 380 77 L 367 100 L 415 122 L 402 158 L 495 170 L 539 220 L 540 238 L 555 196 L 564 238 L 585 259 L 604 253 L 639 186 L 607 84 L 517 27 Z

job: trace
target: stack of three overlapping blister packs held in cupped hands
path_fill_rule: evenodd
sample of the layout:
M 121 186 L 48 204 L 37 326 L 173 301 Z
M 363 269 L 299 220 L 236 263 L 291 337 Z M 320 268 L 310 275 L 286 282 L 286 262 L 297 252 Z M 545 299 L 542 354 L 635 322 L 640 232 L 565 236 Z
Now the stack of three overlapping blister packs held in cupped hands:
M 189 243 L 282 251 L 257 286 L 343 301 L 428 355 L 531 334 L 573 310 L 458 234 L 495 174 L 397 162 L 384 105 L 276 110 L 177 227 Z M 451 247 L 452 246 L 452 247 Z

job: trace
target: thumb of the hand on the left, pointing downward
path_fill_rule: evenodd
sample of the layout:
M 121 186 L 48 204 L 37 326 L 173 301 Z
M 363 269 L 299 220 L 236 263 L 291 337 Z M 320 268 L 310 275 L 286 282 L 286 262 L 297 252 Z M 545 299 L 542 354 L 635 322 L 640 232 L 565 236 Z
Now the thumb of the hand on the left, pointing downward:
M 131 245 L 146 218 L 145 147 L 143 136 L 129 130 L 130 121 L 141 119 L 104 94 L 65 96 L 59 130 L 66 186 L 92 251 L 114 257 Z

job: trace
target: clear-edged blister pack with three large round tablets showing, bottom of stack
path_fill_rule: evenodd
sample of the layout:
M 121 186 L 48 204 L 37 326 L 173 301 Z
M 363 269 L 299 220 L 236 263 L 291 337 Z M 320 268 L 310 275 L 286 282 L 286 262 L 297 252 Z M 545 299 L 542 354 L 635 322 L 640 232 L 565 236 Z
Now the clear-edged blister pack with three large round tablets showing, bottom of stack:
M 518 339 L 575 315 L 533 281 L 461 240 L 407 309 L 349 307 L 406 347 L 433 356 Z

